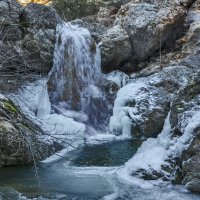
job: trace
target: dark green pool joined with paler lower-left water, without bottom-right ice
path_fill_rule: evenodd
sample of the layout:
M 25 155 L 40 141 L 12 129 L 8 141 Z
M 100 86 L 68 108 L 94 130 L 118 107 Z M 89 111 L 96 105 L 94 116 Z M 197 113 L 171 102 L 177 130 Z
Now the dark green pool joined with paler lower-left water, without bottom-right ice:
M 84 146 L 59 162 L 38 165 L 39 182 L 31 166 L 1 168 L 0 186 L 14 188 L 31 198 L 41 195 L 57 199 L 54 198 L 56 194 L 64 194 L 69 199 L 101 199 L 112 193 L 113 189 L 107 178 L 96 172 L 95 167 L 123 165 L 141 143 L 140 140 L 125 140 Z M 85 167 L 91 166 L 95 167 L 87 174 Z

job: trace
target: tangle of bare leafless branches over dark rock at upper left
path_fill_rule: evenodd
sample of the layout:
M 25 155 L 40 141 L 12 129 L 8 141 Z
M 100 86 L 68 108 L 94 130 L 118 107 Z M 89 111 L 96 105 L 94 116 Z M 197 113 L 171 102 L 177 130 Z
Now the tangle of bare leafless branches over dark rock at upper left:
M 23 21 L 19 4 L 2 1 L 8 9 L 0 8 L 0 88 L 1 92 L 9 92 L 48 73 L 53 63 L 54 41 L 50 44 L 44 29 L 40 34 L 39 29 Z

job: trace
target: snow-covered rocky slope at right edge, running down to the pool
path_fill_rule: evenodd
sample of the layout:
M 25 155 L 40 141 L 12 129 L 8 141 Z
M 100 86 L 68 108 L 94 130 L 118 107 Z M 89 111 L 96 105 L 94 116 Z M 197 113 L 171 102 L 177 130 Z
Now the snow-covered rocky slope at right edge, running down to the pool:
M 199 137 L 200 87 L 198 77 L 181 89 L 171 104 L 163 131 L 146 140 L 122 169 L 127 176 L 144 179 L 170 179 L 176 159 Z M 188 150 L 187 150 L 188 151 Z M 189 150 L 190 151 L 190 150 Z

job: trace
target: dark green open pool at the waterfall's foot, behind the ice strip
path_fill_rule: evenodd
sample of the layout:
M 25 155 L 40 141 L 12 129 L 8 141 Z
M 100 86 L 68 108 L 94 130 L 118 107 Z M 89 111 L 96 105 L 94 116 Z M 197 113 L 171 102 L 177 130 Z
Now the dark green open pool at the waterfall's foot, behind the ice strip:
M 124 140 L 84 146 L 71 158 L 75 166 L 120 166 L 137 152 L 142 140 Z

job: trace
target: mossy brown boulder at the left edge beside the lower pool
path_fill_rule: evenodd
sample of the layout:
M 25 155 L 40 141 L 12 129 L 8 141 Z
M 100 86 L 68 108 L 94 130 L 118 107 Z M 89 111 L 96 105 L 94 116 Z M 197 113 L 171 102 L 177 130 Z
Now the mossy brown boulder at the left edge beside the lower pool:
M 61 149 L 46 144 L 44 132 L 8 98 L 0 95 L 0 166 L 25 165 Z

